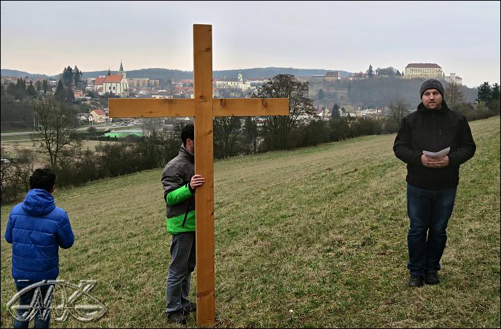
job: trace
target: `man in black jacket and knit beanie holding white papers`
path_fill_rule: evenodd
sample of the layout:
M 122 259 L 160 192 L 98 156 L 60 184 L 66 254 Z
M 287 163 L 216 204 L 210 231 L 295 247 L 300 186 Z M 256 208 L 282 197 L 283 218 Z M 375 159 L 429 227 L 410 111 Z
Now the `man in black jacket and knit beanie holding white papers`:
M 466 118 L 443 101 L 443 86 L 430 79 L 421 85 L 421 103 L 400 124 L 393 151 L 407 163 L 407 213 L 410 219 L 410 287 L 439 283 L 437 271 L 445 248 L 445 229 L 459 183 L 459 165 L 475 154 Z M 423 151 L 448 154 L 433 157 Z

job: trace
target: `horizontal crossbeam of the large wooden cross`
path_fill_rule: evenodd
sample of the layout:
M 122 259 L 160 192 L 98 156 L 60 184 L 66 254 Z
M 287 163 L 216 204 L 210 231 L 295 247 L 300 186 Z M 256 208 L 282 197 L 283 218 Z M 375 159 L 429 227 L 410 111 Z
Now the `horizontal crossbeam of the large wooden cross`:
M 110 117 L 194 117 L 194 99 L 109 99 Z M 212 99 L 214 117 L 289 115 L 289 99 Z

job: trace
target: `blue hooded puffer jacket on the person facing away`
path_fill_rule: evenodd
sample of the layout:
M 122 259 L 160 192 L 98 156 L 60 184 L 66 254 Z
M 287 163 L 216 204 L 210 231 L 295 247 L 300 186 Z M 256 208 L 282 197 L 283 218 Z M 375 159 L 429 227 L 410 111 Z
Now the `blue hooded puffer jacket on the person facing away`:
M 44 189 L 31 189 L 12 208 L 5 237 L 12 244 L 12 278 L 22 287 L 58 278 L 59 247 L 75 240 L 67 213 Z

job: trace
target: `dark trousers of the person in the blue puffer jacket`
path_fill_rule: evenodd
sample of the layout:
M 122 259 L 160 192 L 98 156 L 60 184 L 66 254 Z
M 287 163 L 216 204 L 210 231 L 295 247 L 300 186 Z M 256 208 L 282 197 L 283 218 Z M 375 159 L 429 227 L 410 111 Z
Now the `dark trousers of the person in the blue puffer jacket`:
M 14 319 L 13 328 L 28 328 L 28 324 L 30 323 L 30 314 L 32 312 L 36 312 L 35 328 L 49 328 L 49 324 L 51 322 L 50 298 L 52 297 L 47 296 L 49 287 L 51 287 L 51 285 L 41 285 L 40 287 L 29 289 L 19 296 L 19 309 L 17 310 L 17 318 Z M 16 288 L 17 292 L 24 289 L 24 287 L 19 285 L 16 285 Z M 33 296 L 35 295 L 35 292 L 37 293 L 37 296 L 35 296 L 34 299 Z M 32 301 L 34 302 L 33 305 L 31 305 Z M 44 307 L 44 304 L 49 307 Z M 31 306 L 34 306 L 35 308 L 32 308 Z

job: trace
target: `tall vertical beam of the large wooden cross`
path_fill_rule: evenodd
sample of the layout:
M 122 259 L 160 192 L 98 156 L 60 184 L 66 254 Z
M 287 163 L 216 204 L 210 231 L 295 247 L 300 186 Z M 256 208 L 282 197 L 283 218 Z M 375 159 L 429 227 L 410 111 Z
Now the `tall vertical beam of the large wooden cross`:
M 193 26 L 195 92 L 195 174 L 205 178 L 196 189 L 196 322 L 215 320 L 214 158 L 212 108 L 212 26 Z

